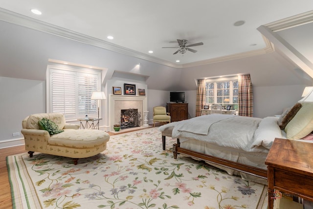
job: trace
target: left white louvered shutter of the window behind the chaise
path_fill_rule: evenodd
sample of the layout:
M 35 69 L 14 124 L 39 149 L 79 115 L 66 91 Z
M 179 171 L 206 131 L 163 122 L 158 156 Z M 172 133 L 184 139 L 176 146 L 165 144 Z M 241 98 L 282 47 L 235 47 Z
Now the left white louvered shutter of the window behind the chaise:
M 50 71 L 52 113 L 75 116 L 76 113 L 76 76 L 66 70 Z

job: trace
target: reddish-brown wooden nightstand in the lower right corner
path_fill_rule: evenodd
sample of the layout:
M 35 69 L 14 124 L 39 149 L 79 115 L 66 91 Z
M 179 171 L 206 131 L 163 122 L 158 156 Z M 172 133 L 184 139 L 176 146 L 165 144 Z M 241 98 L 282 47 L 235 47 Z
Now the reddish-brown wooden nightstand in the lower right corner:
M 313 201 L 313 143 L 276 138 L 265 164 L 268 165 L 268 209 L 279 198 L 274 189 Z

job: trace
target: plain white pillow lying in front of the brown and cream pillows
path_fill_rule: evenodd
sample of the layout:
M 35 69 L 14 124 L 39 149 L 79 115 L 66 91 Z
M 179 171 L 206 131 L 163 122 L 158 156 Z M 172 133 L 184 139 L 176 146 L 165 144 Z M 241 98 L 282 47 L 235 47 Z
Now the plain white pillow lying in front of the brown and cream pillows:
M 254 132 L 254 141 L 251 148 L 264 146 L 270 149 L 275 138 L 282 138 L 282 131 L 278 126 L 278 117 L 265 117 Z

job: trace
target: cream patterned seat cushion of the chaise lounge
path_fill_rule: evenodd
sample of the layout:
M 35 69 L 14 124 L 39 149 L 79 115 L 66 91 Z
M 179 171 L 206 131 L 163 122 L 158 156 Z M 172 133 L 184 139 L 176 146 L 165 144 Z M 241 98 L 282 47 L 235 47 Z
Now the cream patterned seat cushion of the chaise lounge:
M 109 141 L 110 135 L 104 131 L 93 129 L 68 129 L 55 134 L 48 140 L 49 145 L 72 148 L 92 148 Z

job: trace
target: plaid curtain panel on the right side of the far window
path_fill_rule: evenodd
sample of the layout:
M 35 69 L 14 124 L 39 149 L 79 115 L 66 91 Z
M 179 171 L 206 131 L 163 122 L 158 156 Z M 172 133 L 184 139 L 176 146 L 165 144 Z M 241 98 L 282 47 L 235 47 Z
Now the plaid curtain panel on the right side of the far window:
M 253 92 L 250 75 L 239 75 L 238 115 L 253 117 Z

